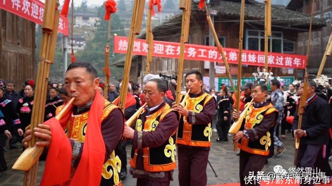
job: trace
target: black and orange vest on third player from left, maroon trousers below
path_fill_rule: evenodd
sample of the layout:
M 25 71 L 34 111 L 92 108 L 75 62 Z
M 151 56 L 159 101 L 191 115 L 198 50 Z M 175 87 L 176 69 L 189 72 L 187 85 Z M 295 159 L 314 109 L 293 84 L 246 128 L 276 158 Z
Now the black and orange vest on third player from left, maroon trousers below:
M 204 106 L 213 97 L 210 94 L 204 93 L 201 96 L 191 98 L 187 97 L 184 105 L 188 110 L 200 113 L 204 110 Z M 184 99 L 183 95 L 181 101 Z M 195 119 L 193 119 L 194 122 Z M 181 145 L 209 147 L 211 146 L 212 128 L 211 122 L 207 121 L 206 125 L 192 125 L 187 122 L 187 117 L 181 116 L 177 143 Z

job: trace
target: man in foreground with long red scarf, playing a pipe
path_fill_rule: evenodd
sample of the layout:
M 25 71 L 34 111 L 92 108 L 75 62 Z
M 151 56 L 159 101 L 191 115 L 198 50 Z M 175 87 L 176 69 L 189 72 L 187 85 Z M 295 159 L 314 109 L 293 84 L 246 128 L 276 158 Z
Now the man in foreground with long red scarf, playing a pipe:
M 97 91 L 97 69 L 86 62 L 68 66 L 64 88 L 75 97 L 60 121 L 51 118 L 34 128 L 49 146 L 41 185 L 119 185 L 121 161 L 116 148 L 124 129 L 121 109 Z M 57 113 L 64 106 L 57 108 Z M 23 143 L 31 140 L 29 127 Z

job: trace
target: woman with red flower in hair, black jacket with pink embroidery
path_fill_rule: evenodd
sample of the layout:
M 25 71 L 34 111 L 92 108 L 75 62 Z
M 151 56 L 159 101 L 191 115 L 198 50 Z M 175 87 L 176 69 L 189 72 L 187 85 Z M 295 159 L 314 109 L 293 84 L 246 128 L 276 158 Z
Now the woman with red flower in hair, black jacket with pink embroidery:
M 16 112 L 19 114 L 22 130 L 25 132 L 25 128 L 28 127 L 31 122 L 32 107 L 34 105 L 35 81 L 31 79 L 24 84 L 26 85 L 24 87 L 24 94 L 26 97 L 19 99 Z

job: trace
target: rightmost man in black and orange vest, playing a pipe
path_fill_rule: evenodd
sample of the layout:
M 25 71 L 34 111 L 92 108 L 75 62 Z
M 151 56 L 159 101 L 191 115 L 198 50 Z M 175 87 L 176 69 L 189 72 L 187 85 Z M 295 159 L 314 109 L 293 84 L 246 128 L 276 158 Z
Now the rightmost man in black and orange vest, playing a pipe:
M 255 84 L 251 88 L 251 96 L 254 103 L 249 106 L 249 110 L 242 122 L 240 130 L 234 134 L 233 140 L 239 141 L 240 150 L 240 184 L 260 185 L 254 181 L 247 182 L 250 172 L 257 175 L 265 165 L 270 153 L 271 137 L 273 137 L 274 125 L 278 118 L 278 111 L 272 103 L 265 101 L 267 95 L 265 84 Z M 247 106 L 247 103 L 245 106 Z M 234 119 L 239 117 L 239 112 L 234 110 Z

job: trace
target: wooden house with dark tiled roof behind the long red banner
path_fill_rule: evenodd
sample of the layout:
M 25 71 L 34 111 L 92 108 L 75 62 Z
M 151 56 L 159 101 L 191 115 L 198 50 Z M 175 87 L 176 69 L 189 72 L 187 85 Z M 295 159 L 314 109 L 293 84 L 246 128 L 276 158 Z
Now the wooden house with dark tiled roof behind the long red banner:
M 214 27 L 223 47 L 238 48 L 239 43 L 239 17 L 240 0 L 220 0 L 218 5 L 208 5 L 208 8 L 217 10 L 214 17 Z M 245 4 L 245 24 L 243 49 L 264 51 L 264 10 L 265 5 L 252 0 L 246 0 Z M 180 42 L 182 14 L 173 17 L 168 22 L 153 29 L 154 40 Z M 298 34 L 306 32 L 309 28 L 310 19 L 307 15 L 286 9 L 284 6 L 272 6 L 272 36 L 269 40 L 269 51 L 278 53 L 297 53 Z M 326 26 L 324 19 L 314 19 L 313 29 L 320 30 Z M 198 9 L 198 2 L 192 2 L 192 14 L 189 31 L 189 43 L 197 45 L 209 45 L 209 26 L 206 20 L 205 10 Z M 140 37 L 145 39 L 145 34 Z M 140 74 L 145 75 L 146 56 L 141 57 Z M 223 66 L 222 63 L 216 65 Z M 153 57 L 150 64 L 150 73 L 177 75 L 178 59 Z M 231 73 L 234 78 L 237 75 L 237 65 L 230 64 Z M 257 66 L 243 66 L 243 77 L 252 77 L 252 73 L 257 71 Z M 209 76 L 208 61 L 185 60 L 184 74 L 197 69 L 204 76 Z M 301 76 L 296 69 L 273 68 L 272 72 L 276 76 Z M 135 73 L 134 71 L 131 71 Z M 215 74 L 215 77 L 226 77 L 226 74 Z M 138 82 L 142 79 L 139 75 Z M 135 80 L 134 80 L 135 81 Z

